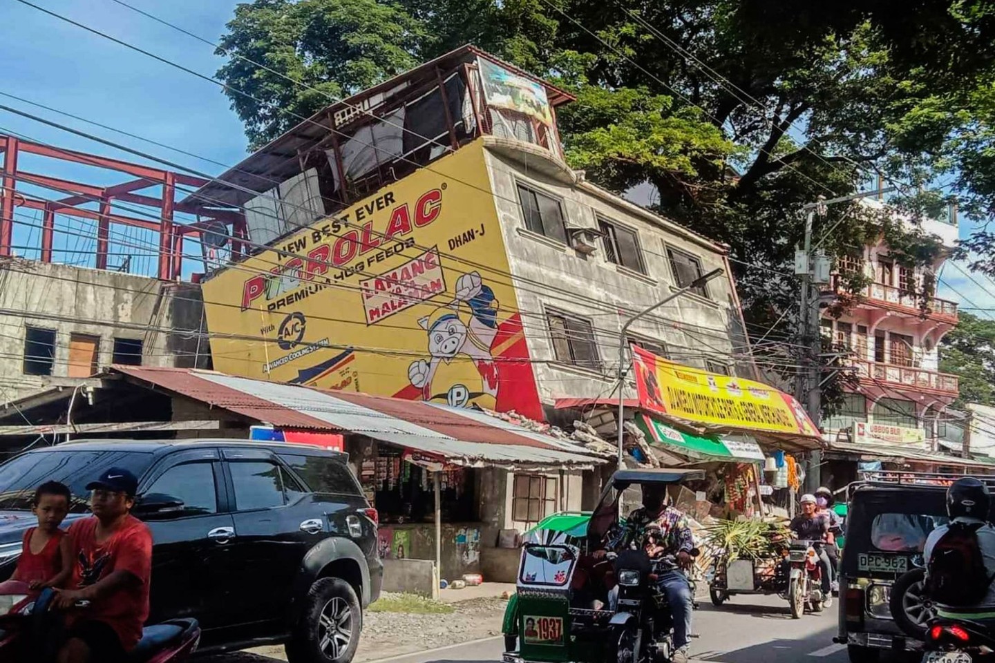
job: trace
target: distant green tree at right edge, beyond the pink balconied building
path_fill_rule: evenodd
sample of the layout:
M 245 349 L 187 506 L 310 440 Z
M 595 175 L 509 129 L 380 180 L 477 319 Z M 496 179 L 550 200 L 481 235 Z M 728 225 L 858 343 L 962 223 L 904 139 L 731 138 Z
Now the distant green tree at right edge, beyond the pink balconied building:
M 954 408 L 995 406 L 995 321 L 961 312 L 957 326 L 940 343 L 939 370 L 960 378 Z

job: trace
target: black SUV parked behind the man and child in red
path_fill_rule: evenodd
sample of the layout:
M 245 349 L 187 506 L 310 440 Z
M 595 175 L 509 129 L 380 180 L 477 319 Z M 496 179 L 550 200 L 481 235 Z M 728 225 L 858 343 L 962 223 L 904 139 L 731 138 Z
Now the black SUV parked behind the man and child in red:
M 31 499 L 55 479 L 89 509 L 109 467 L 139 478 L 132 514 L 154 541 L 150 622 L 195 617 L 201 650 L 285 643 L 291 663 L 348 663 L 380 593 L 376 511 L 344 454 L 245 440 L 74 441 L 0 465 L 0 580 L 14 572 Z

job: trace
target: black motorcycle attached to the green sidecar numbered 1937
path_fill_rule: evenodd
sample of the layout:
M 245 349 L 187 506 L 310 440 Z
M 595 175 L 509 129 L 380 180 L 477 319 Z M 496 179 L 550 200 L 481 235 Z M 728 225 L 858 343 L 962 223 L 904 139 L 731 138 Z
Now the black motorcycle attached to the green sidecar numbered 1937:
M 697 557 L 698 551 L 692 551 Z M 618 598 L 610 625 L 616 663 L 670 661 L 674 655 L 674 619 L 658 580 L 677 569 L 673 555 L 651 560 L 641 550 L 624 550 L 615 559 Z

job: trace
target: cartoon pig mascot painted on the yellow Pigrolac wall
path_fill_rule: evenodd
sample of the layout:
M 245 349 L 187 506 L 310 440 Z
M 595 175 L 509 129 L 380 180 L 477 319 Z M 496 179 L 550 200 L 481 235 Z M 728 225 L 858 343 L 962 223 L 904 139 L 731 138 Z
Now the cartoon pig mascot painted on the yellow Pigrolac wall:
M 469 320 L 461 312 L 470 308 Z M 491 346 L 497 336 L 497 299 L 477 271 L 456 281 L 456 299 L 418 324 L 428 333 L 432 359 L 408 367 L 408 379 L 422 399 L 456 408 L 471 403 L 497 405 L 497 363 Z

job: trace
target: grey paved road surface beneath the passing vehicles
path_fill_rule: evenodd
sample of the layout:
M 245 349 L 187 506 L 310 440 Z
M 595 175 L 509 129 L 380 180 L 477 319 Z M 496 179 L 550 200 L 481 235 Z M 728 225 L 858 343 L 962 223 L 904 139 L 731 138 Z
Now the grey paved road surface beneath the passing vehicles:
M 720 608 L 701 604 L 695 613 L 692 658 L 710 663 L 847 663 L 846 648 L 833 644 L 836 605 L 820 615 L 792 619 L 776 597 L 736 597 Z M 390 663 L 494 663 L 503 641 L 494 638 L 390 659 Z

